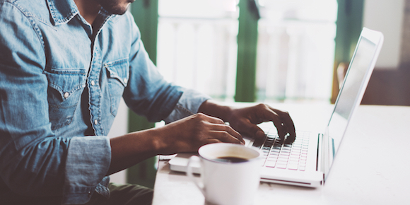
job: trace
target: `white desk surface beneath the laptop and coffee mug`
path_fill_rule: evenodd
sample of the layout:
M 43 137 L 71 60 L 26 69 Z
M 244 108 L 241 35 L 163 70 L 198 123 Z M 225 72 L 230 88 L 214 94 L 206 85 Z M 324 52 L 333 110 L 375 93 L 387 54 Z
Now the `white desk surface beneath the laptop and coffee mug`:
M 274 105 L 288 110 L 296 129 L 322 130 L 329 105 Z M 317 112 L 317 110 L 321 110 Z M 322 124 L 313 126 L 312 123 Z M 359 107 L 324 186 L 312 189 L 261 183 L 254 204 L 410 204 L 410 107 Z M 185 174 L 160 161 L 153 205 L 203 205 Z

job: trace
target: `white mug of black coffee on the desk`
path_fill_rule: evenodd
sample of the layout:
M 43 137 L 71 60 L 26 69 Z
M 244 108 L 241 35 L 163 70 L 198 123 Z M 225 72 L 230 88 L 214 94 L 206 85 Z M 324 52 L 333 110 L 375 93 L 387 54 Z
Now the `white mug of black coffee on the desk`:
M 206 204 L 250 205 L 259 187 L 261 154 L 238 144 L 207 144 L 199 156 L 189 158 L 187 175 L 204 194 Z M 192 174 L 192 163 L 200 161 L 201 177 Z

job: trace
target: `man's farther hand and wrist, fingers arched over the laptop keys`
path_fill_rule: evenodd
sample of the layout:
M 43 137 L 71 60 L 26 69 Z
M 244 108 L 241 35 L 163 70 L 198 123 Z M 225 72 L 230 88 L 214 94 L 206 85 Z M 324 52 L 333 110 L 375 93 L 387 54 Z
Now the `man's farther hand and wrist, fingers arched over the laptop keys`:
M 214 117 L 220 117 L 241 134 L 248 136 L 263 137 L 264 132 L 257 127 L 262 122 L 273 122 L 281 139 L 286 141 L 295 140 L 295 125 L 288 112 L 259 104 L 251 107 L 226 107 L 215 102 L 206 101 L 199 108 L 200 112 Z

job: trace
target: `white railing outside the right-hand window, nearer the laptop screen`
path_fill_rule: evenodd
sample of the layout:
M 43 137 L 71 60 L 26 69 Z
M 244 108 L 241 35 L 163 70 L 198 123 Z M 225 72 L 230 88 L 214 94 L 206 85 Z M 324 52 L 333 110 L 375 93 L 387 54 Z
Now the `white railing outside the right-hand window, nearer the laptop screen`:
M 334 23 L 259 21 L 258 99 L 329 100 L 335 35 Z

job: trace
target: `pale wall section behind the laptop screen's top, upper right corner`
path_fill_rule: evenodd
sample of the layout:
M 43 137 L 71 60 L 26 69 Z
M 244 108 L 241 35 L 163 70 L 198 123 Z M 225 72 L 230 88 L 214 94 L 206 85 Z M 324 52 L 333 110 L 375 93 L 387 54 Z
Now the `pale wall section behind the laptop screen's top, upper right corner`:
M 397 68 L 400 64 L 404 1 L 365 0 L 363 26 L 385 35 L 377 68 Z

